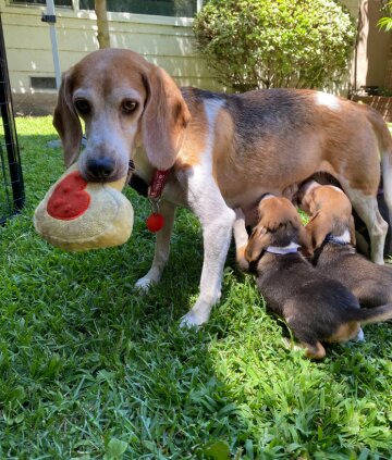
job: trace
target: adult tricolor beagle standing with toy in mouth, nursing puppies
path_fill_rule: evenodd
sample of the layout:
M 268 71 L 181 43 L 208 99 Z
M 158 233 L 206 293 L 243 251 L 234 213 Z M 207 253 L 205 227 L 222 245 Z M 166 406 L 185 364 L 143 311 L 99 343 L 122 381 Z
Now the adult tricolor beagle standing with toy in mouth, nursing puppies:
M 87 145 L 79 154 L 85 122 Z M 313 90 L 270 89 L 244 95 L 179 89 L 160 67 L 121 49 L 95 51 L 64 73 L 53 119 L 65 164 L 79 158 L 87 181 L 114 181 L 133 159 L 148 184 L 170 171 L 149 272 L 159 282 L 169 258 L 175 208 L 199 219 L 204 237 L 200 294 L 184 325 L 209 318 L 221 294 L 233 208 L 249 213 L 265 191 L 280 194 L 316 171 L 340 181 L 371 235 L 372 259 L 383 262 L 387 224 L 377 208 L 380 158 L 392 209 L 392 140 L 368 107 Z M 79 157 L 78 157 L 79 156 Z

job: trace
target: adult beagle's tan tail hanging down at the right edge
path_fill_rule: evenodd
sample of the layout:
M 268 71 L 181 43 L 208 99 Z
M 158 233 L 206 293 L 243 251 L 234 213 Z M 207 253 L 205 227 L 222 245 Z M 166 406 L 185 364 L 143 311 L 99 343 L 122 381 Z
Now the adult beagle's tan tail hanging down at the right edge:
M 370 109 L 367 110 L 366 114 L 375 129 L 379 141 L 383 181 L 383 195 L 389 212 L 392 214 L 392 136 L 381 114 L 375 109 Z

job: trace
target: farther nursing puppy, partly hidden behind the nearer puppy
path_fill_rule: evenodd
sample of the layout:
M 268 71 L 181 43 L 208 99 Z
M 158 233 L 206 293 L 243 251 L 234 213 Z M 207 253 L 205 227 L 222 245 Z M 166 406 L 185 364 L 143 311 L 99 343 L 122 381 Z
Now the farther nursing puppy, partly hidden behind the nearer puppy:
M 392 302 L 392 266 L 377 265 L 355 250 L 352 206 L 345 194 L 311 181 L 298 197 L 299 208 L 310 214 L 306 231 L 317 269 L 344 284 L 362 307 Z

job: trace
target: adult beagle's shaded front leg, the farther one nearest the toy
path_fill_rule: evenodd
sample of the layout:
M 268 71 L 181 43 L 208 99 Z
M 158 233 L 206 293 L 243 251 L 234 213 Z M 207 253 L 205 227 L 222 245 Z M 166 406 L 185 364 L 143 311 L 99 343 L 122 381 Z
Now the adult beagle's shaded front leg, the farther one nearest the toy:
M 159 210 L 164 219 L 164 224 L 163 228 L 157 233 L 152 265 L 148 273 L 138 279 L 135 285 L 139 290 L 148 290 L 152 284 L 159 283 L 169 260 L 170 237 L 173 231 L 175 206 L 169 201 L 162 201 Z

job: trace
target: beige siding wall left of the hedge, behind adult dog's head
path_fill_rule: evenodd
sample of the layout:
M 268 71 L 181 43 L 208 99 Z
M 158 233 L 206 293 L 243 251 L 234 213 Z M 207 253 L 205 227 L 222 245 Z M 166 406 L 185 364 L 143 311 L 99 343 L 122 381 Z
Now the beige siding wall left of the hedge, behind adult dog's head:
M 77 2 L 74 2 L 77 4 Z M 44 7 L 16 7 L 0 0 L 14 109 L 20 113 L 51 113 L 56 90 L 34 90 L 30 77 L 53 77 L 49 25 Z M 61 71 L 98 49 L 96 15 L 57 8 L 57 39 Z M 193 47 L 191 18 L 108 13 L 111 46 L 128 48 L 166 69 L 180 85 L 219 90 L 211 72 Z

